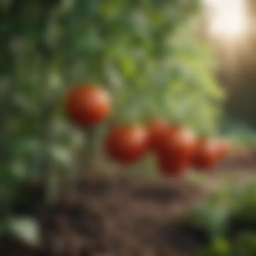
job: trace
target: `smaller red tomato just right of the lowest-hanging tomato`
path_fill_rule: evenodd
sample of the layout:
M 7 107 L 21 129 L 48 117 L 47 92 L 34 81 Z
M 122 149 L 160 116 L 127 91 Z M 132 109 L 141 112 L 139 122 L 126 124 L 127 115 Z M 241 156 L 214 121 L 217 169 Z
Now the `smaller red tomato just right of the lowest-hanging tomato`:
M 192 165 L 197 169 L 210 169 L 217 164 L 218 160 L 218 143 L 211 139 L 198 140 Z

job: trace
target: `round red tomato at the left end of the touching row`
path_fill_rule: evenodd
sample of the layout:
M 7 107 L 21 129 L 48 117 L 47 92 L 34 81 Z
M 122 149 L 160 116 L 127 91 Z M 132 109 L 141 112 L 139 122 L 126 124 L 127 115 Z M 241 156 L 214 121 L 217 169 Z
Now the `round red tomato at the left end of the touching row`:
M 141 126 L 114 127 L 106 140 L 109 156 L 120 162 L 135 162 L 148 149 L 148 132 Z

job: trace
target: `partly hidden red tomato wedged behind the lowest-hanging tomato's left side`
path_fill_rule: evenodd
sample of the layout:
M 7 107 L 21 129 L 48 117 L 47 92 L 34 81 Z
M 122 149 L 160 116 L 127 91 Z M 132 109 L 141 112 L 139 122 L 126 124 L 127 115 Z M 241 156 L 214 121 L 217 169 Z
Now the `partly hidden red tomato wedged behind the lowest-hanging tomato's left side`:
M 162 119 L 156 119 L 148 125 L 149 148 L 155 152 L 159 150 L 161 139 L 168 129 L 168 124 Z

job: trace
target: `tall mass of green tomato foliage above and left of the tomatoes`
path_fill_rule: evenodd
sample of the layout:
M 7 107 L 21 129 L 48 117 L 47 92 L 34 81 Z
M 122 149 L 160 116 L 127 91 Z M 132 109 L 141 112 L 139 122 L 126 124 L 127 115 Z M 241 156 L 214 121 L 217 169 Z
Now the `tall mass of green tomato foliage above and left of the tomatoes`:
M 223 92 L 198 11 L 197 1 L 1 0 L 1 182 L 69 168 L 79 133 L 62 97 L 77 82 L 111 92 L 114 122 L 161 115 L 213 132 Z

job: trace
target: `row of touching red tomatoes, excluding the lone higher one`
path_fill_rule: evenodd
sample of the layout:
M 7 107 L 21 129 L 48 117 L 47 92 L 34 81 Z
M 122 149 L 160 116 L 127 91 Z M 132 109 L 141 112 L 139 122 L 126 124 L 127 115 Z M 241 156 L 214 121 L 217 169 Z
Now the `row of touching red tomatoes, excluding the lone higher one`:
M 106 140 L 107 153 L 120 162 L 140 160 L 147 151 L 156 155 L 159 171 L 165 176 L 183 174 L 188 168 L 213 168 L 229 151 L 227 142 L 196 138 L 193 132 L 180 126 L 170 126 L 155 120 L 147 126 L 112 128 Z

